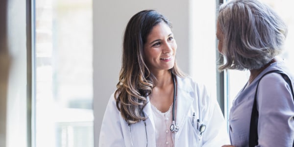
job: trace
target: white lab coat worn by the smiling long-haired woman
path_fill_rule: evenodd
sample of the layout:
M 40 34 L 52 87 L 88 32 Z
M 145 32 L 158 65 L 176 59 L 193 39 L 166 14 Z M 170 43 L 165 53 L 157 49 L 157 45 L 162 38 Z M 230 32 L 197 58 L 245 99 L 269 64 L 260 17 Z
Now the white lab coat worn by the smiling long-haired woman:
M 216 98 L 210 97 L 204 85 L 197 84 L 190 77 L 177 76 L 176 100 L 175 121 L 179 131 L 174 134 L 174 147 L 221 147 L 229 144 L 220 106 Z M 112 94 L 101 125 L 99 147 L 146 147 L 146 145 L 156 147 L 150 102 L 144 108 L 144 113 L 148 117 L 147 138 L 143 121 L 131 124 L 130 133 L 128 124 L 121 117 Z M 206 125 L 202 135 L 199 135 L 200 132 L 196 129 L 196 123 L 192 125 L 193 113 L 196 115 L 194 122 L 200 118 L 200 121 Z

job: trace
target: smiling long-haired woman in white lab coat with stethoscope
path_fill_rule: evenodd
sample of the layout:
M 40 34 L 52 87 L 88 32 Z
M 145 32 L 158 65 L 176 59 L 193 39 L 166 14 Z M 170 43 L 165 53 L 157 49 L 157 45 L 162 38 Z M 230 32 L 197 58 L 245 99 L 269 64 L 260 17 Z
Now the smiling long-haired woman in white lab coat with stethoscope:
M 143 10 L 128 22 L 117 90 L 99 147 L 221 147 L 228 143 L 216 98 L 177 67 L 167 18 Z

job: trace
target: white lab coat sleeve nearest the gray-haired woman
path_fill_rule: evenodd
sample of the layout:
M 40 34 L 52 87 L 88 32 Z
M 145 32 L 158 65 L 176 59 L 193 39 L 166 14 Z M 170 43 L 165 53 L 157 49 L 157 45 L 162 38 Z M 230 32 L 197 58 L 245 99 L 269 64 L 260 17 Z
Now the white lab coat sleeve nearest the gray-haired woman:
M 199 102 L 203 107 L 201 115 L 203 123 L 206 124 L 206 130 L 203 132 L 202 147 L 221 147 L 229 145 L 229 138 L 226 129 L 226 123 L 221 113 L 221 108 L 216 98 L 211 98 L 204 85 L 199 86 Z

